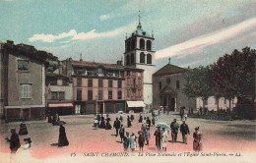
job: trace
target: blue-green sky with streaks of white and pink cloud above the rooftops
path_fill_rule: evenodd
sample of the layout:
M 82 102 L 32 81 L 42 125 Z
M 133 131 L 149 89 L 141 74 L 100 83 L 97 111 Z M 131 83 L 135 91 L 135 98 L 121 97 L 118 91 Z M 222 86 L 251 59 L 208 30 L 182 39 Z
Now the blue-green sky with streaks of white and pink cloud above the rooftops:
M 0 0 L 0 41 L 14 40 L 60 60 L 116 63 L 125 36 L 154 32 L 156 68 L 213 64 L 234 49 L 256 49 L 252 0 Z

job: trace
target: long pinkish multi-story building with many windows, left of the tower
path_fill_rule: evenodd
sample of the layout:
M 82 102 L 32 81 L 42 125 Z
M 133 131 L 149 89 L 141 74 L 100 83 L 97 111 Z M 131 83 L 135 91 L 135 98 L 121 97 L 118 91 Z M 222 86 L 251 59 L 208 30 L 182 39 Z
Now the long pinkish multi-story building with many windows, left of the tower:
M 143 99 L 143 70 L 126 69 L 122 61 L 106 64 L 67 59 L 63 73 L 74 81 L 76 114 L 127 111 L 126 100 Z M 129 107 L 129 106 L 128 106 Z

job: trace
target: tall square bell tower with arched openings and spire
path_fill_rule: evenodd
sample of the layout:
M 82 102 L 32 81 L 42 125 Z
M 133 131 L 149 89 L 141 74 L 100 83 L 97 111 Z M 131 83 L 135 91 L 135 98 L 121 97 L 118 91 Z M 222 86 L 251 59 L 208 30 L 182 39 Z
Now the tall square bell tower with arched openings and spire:
M 156 61 L 153 45 L 154 33 L 150 35 L 144 31 L 141 26 L 141 17 L 139 15 L 139 25 L 137 29 L 126 35 L 124 65 L 130 68 L 138 68 L 144 70 L 144 103 L 146 107 L 152 104 L 152 75 L 156 71 Z

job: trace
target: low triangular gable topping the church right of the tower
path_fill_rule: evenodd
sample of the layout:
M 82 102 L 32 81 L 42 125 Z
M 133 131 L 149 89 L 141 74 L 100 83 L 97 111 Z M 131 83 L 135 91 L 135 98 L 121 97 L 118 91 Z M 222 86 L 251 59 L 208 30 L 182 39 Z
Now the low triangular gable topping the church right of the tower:
M 188 70 L 184 68 L 180 68 L 178 66 L 174 66 L 171 64 L 167 64 L 160 68 L 159 71 L 153 74 L 154 77 L 158 76 L 165 76 L 165 75 L 173 75 L 173 74 L 180 74 L 180 73 L 186 73 Z

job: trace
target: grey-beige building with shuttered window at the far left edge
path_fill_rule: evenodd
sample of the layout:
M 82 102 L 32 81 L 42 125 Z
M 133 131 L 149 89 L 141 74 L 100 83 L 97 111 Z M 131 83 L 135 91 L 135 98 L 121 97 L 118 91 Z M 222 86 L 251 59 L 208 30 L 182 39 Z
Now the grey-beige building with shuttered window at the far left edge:
M 1 44 L 0 111 L 6 121 L 45 118 L 45 65 L 30 45 Z

